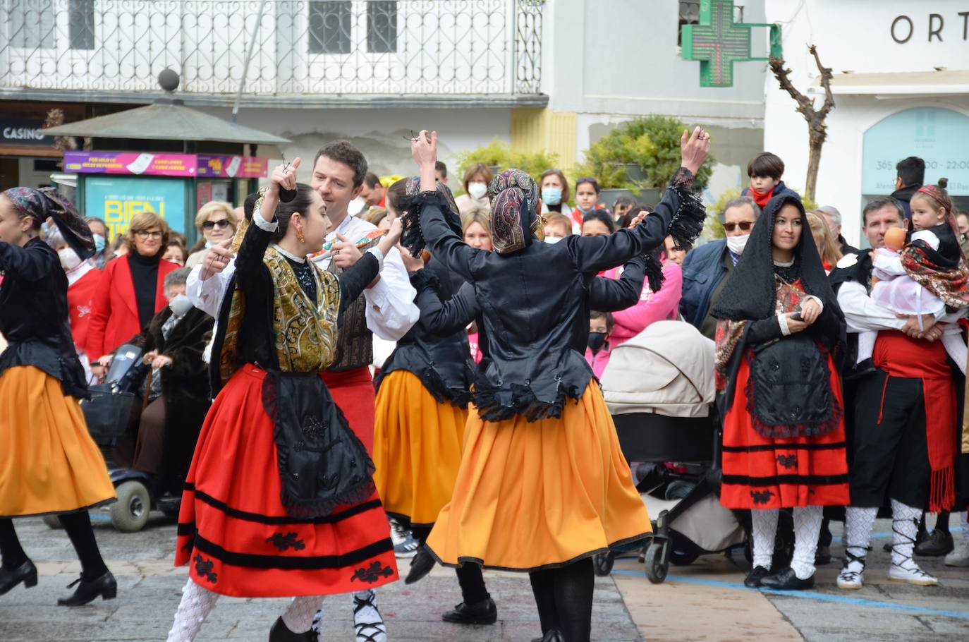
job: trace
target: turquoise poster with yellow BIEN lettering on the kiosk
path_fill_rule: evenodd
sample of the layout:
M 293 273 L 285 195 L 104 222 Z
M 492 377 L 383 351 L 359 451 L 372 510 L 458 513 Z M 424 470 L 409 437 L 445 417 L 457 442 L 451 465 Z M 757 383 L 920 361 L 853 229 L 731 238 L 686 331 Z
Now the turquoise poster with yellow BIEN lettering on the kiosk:
M 84 215 L 103 218 L 114 239 L 131 219 L 153 211 L 172 230 L 185 232 L 185 184 L 172 178 L 89 177 L 84 182 Z

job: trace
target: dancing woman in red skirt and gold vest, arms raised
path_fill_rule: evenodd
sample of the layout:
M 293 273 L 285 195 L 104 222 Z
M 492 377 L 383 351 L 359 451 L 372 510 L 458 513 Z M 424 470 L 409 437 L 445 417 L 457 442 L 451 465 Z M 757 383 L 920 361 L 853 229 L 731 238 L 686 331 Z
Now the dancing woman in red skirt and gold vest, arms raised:
M 323 595 L 397 579 L 373 463 L 321 372 L 340 313 L 376 278 L 400 226 L 339 278 L 318 269 L 306 256 L 329 222 L 298 166 L 273 172 L 220 310 L 218 396 L 182 496 L 175 563 L 190 571 L 169 642 L 193 640 L 218 594 L 297 595 L 269 639 L 308 642 Z M 295 198 L 280 204 L 281 189 Z

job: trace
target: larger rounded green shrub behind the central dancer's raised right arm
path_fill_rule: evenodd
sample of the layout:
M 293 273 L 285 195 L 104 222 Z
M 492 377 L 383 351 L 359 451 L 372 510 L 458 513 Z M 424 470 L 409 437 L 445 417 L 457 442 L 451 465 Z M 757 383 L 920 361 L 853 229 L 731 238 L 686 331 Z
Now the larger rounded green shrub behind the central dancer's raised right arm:
M 603 188 L 663 187 L 680 164 L 680 137 L 691 129 L 675 118 L 661 115 L 628 120 L 585 150 L 579 176 L 596 177 Z M 700 190 L 710 179 L 714 163 L 709 156 L 700 168 L 695 187 Z M 643 179 L 626 176 L 626 164 L 639 165 Z

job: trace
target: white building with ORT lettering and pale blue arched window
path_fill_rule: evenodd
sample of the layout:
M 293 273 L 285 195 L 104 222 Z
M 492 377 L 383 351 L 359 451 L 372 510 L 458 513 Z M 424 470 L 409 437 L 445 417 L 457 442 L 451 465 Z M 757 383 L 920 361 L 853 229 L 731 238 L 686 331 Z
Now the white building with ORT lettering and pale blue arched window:
M 768 21 L 783 27 L 791 78 L 823 100 L 817 46 L 833 70 L 835 107 L 821 156 L 816 200 L 838 208 L 845 238 L 862 242 L 861 209 L 894 190 L 895 163 L 925 160 L 926 182 L 949 179 L 956 205 L 969 207 L 969 5 L 960 0 L 771 0 Z M 802 184 L 807 127 L 795 103 L 766 79 L 766 148 Z

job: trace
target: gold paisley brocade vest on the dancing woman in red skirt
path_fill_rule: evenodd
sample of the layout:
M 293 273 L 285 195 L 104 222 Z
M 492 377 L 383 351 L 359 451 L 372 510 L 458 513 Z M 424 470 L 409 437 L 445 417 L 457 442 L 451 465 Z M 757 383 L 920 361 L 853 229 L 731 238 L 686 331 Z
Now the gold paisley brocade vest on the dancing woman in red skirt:
M 336 346 L 339 280 L 311 262 L 316 278 L 316 301 L 311 302 L 299 287 L 293 267 L 274 247 L 266 249 L 263 263 L 272 275 L 272 338 L 279 369 L 283 372 L 327 369 L 333 362 Z M 223 381 L 228 381 L 241 366 L 237 358 L 237 338 L 244 313 L 245 297 L 236 288 L 220 360 Z

